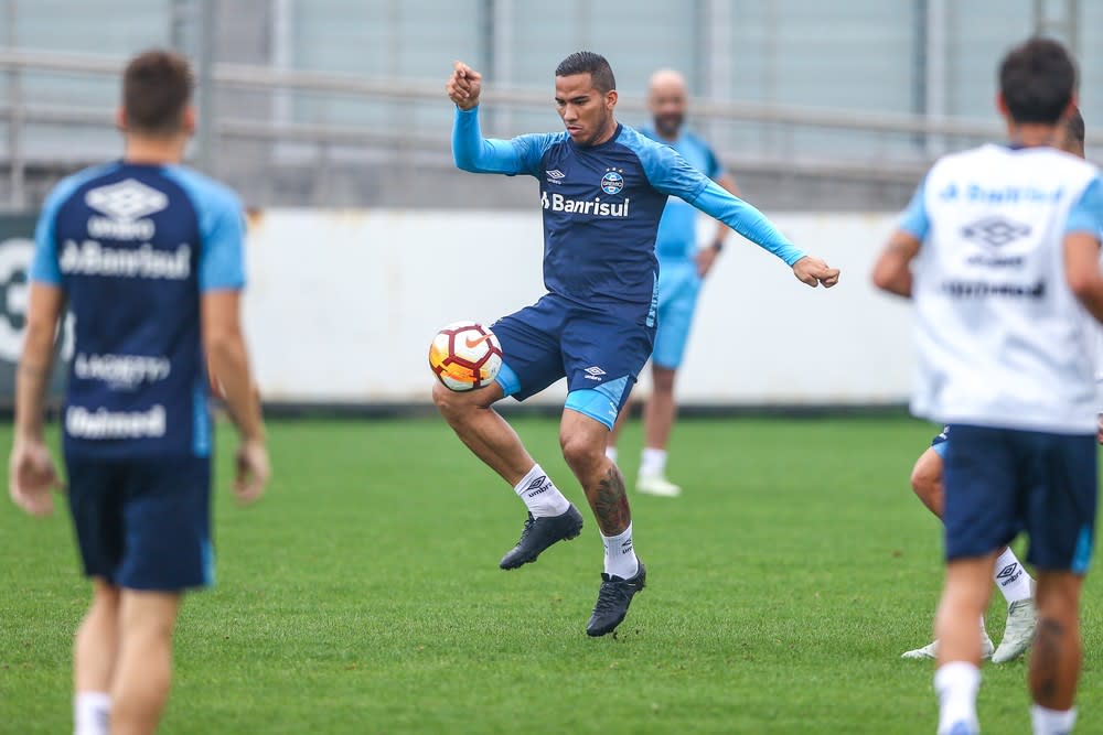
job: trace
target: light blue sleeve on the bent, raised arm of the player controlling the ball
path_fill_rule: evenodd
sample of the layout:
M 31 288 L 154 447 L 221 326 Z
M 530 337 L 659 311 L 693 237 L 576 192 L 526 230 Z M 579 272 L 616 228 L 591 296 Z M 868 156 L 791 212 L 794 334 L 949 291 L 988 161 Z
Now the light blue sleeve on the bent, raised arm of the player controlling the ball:
M 472 173 L 538 176 L 544 152 L 556 138 L 554 133 L 518 136 L 512 140 L 483 138 L 479 108 L 461 110 L 457 107 L 452 122 L 452 158 L 458 169 Z

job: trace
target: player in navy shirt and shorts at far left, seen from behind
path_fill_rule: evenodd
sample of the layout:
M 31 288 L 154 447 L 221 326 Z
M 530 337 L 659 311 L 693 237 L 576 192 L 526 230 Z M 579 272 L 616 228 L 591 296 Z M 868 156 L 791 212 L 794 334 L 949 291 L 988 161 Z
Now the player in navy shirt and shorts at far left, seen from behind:
M 60 487 L 43 394 L 66 304 L 76 317 L 63 446 L 92 607 L 74 646 L 76 735 L 152 733 L 169 694 L 182 593 L 211 584 L 211 446 L 204 357 L 242 445 L 238 500 L 268 478 L 238 301 L 244 213 L 180 165 L 195 127 L 192 73 L 159 51 L 122 79 L 121 161 L 61 182 L 39 220 L 17 379 L 9 487 L 49 514 Z

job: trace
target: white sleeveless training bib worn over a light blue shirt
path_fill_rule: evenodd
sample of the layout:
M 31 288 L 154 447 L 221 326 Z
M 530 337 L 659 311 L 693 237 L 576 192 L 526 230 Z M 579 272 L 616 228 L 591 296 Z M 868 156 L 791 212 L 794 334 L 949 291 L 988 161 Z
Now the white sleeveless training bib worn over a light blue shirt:
M 1063 239 L 1099 185 L 1093 165 L 1050 148 L 984 145 L 934 165 L 912 205 L 929 223 L 914 262 L 918 414 L 1093 430 L 1093 329 Z

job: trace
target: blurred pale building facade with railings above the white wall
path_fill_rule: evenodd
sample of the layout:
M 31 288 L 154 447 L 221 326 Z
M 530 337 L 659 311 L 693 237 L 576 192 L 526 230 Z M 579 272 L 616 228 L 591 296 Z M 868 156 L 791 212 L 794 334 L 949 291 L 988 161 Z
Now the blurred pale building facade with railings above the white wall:
M 1082 0 L 0 0 L 0 28 L 14 210 L 117 153 L 117 73 L 153 45 L 196 61 L 193 161 L 251 206 L 529 205 L 452 170 L 454 58 L 484 72 L 501 137 L 557 129 L 553 69 L 570 51 L 609 57 L 629 123 L 650 73 L 677 68 L 694 126 L 757 203 L 790 209 L 897 208 L 933 156 L 998 136 L 994 66 L 1031 32 L 1072 46 L 1085 90 L 1103 85 L 1103 2 Z M 1093 128 L 1103 104 L 1085 93 L 1084 114 Z

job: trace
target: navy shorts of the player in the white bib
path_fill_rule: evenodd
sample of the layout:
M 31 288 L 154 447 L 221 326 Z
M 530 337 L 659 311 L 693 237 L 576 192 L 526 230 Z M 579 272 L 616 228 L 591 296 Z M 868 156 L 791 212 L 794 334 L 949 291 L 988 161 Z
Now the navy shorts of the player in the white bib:
M 955 424 L 945 461 L 946 560 L 984 556 L 1020 532 L 1027 561 L 1083 574 L 1095 532 L 1095 437 Z

